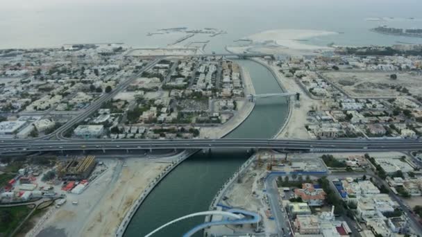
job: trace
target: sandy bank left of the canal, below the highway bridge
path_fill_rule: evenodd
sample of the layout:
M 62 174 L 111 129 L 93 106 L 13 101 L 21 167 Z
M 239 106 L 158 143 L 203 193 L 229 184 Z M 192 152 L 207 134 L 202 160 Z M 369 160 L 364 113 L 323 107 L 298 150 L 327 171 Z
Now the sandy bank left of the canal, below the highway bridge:
M 108 170 L 81 195 L 67 194 L 67 202 L 37 236 L 112 236 L 140 193 L 172 159 L 104 159 Z

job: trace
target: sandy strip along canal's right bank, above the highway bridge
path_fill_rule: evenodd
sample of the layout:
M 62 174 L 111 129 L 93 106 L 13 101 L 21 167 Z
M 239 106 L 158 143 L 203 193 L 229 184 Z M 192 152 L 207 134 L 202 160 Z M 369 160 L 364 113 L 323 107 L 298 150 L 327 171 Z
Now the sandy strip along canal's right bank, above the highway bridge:
M 259 61 L 267 64 L 264 60 Z M 302 88 L 296 83 L 294 78 L 286 78 L 282 73 L 280 73 L 280 67 L 273 64 L 269 64 L 269 67 L 273 69 L 278 77 L 278 80 L 280 80 L 287 91 L 299 92 L 301 94 L 300 101 L 297 101 L 296 98 L 292 97 L 292 114 L 289 121 L 287 121 L 287 125 L 284 130 L 282 130 L 276 138 L 310 139 L 310 136 L 305 129 L 305 124 L 307 123 L 307 112 L 311 110 L 312 107 L 321 107 L 321 101 L 314 100 L 307 96 L 307 94 L 303 92 Z

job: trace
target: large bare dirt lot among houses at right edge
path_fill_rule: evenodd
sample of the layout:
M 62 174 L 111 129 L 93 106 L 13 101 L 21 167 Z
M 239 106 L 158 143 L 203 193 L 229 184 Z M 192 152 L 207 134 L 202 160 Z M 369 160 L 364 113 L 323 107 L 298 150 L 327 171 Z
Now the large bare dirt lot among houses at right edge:
M 421 95 L 422 75 L 416 73 L 398 73 L 397 79 L 390 79 L 391 72 L 326 72 L 326 79 L 343 88 L 353 97 L 406 96 L 397 91 L 405 87 L 414 95 Z

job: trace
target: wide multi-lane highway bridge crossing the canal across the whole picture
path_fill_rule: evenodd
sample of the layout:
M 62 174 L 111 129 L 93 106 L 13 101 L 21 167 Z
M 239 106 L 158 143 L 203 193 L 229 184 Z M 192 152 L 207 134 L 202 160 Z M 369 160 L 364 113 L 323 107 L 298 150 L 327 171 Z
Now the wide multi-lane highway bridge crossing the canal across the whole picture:
M 0 144 L 0 154 L 85 150 L 156 150 L 209 148 L 268 148 L 302 152 L 409 151 L 422 150 L 419 139 L 348 139 L 348 140 L 278 140 L 278 139 L 92 139 L 67 141 L 7 141 Z

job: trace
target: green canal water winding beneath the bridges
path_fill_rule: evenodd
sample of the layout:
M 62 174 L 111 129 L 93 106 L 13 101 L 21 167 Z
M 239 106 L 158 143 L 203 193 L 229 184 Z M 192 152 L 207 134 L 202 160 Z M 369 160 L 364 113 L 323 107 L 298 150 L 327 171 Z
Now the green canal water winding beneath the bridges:
M 256 94 L 282 91 L 276 78 L 266 67 L 251 60 L 237 62 L 251 75 Z M 271 138 L 280 130 L 287 113 L 286 98 L 258 99 L 248 119 L 227 137 Z M 192 155 L 153 189 L 133 216 L 124 236 L 144 236 L 181 216 L 208 211 L 219 188 L 248 157 L 246 150 L 212 150 L 206 154 L 197 152 Z M 182 236 L 203 220 L 203 217 L 183 220 L 163 229 L 154 237 Z

